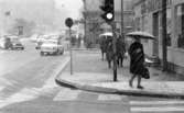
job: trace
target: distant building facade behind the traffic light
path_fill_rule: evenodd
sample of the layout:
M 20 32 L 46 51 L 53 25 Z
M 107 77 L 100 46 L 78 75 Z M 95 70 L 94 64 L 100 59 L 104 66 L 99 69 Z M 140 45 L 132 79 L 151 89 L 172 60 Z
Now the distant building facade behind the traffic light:
M 108 25 L 100 16 L 102 11 L 99 7 L 104 0 L 84 0 L 84 19 L 85 19 L 85 37 L 90 43 L 97 43 L 99 34 L 111 32 L 111 26 Z M 117 32 L 121 30 L 121 0 L 115 0 L 115 22 Z M 123 24 L 125 32 L 129 32 L 133 26 L 133 11 L 131 0 L 123 0 Z

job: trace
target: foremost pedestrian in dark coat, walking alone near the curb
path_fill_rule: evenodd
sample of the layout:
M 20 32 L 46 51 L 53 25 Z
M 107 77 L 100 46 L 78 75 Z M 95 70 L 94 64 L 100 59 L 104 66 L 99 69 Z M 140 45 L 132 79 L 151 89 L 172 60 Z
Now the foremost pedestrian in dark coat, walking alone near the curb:
M 144 68 L 144 52 L 143 45 L 140 43 L 140 38 L 136 37 L 136 41 L 129 47 L 130 55 L 130 72 L 132 74 L 131 79 L 129 80 L 129 86 L 132 87 L 133 79 L 138 77 L 137 88 L 143 89 L 141 86 L 141 75 Z

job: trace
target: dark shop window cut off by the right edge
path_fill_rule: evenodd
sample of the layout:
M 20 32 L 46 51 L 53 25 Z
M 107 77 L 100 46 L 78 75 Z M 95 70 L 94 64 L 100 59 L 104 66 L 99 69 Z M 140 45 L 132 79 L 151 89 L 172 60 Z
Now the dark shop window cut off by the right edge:
M 177 47 L 184 48 L 184 4 L 176 7 L 176 35 Z

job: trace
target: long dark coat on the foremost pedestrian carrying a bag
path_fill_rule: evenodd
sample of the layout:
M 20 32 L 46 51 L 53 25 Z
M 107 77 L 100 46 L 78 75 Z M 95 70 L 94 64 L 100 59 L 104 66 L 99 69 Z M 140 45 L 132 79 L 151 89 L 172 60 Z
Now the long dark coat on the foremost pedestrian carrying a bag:
M 139 42 L 134 42 L 129 48 L 130 55 L 130 72 L 133 75 L 142 75 L 144 68 L 143 46 Z

